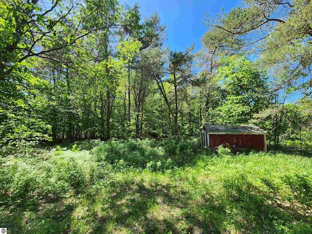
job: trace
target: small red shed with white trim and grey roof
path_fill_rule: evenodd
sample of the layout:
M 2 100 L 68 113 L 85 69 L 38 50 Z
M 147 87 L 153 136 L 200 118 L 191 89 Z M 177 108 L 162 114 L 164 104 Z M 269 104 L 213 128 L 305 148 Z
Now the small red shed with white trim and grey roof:
M 231 149 L 267 151 L 266 131 L 254 125 L 204 125 L 200 129 L 201 148 L 229 144 Z

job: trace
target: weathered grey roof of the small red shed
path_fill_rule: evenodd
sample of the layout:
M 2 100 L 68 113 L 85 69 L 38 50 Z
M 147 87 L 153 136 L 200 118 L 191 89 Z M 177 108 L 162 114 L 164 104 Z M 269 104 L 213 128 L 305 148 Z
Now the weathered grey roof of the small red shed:
M 204 125 L 208 133 L 265 134 L 266 131 L 255 125 Z

